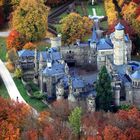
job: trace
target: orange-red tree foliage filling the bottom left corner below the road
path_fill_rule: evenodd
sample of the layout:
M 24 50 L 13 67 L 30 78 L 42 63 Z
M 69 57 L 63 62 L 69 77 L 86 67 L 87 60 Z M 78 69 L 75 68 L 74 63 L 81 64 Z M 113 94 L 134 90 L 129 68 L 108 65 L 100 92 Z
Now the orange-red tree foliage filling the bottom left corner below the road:
M 0 139 L 19 140 L 28 112 L 26 105 L 0 98 Z

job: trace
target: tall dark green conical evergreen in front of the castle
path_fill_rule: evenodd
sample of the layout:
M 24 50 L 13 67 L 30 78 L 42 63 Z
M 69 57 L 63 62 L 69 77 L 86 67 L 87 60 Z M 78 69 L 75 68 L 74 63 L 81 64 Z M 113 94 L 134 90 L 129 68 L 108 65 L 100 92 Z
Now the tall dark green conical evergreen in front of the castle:
M 105 66 L 99 72 L 99 78 L 96 83 L 96 107 L 108 111 L 112 102 L 111 79 Z

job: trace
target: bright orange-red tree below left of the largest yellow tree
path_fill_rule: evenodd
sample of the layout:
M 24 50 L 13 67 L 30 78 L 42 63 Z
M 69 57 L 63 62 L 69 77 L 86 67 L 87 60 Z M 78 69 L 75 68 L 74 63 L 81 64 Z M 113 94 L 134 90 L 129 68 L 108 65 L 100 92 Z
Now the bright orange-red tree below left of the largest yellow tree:
M 18 31 L 12 30 L 7 38 L 7 49 L 15 48 L 21 50 L 24 45 L 25 38 Z

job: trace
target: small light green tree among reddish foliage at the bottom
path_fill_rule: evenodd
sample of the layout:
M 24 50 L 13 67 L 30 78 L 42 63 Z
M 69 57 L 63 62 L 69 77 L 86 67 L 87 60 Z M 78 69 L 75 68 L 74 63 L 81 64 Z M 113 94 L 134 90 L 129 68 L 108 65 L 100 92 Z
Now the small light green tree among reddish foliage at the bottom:
M 81 115 L 82 115 L 82 109 L 80 107 L 76 107 L 68 117 L 69 123 L 73 128 L 73 131 L 77 135 L 80 134 Z

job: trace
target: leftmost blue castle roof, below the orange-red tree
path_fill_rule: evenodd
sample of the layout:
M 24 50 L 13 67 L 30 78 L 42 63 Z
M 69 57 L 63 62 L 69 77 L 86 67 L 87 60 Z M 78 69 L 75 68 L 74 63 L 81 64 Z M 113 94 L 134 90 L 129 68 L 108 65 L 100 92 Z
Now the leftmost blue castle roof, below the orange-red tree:
M 34 56 L 34 51 L 32 51 L 32 50 L 21 50 L 21 51 L 18 51 L 18 56 L 19 57 Z

